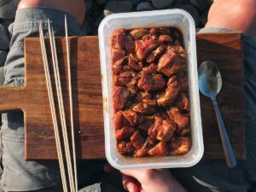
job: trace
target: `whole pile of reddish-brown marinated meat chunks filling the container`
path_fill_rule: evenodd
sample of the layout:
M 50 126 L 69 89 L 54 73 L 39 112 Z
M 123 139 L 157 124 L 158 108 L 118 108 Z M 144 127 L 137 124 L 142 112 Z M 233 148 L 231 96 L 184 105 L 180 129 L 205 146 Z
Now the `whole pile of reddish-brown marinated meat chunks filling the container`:
M 109 40 L 119 153 L 132 157 L 187 153 L 191 127 L 182 33 L 175 27 L 119 29 Z

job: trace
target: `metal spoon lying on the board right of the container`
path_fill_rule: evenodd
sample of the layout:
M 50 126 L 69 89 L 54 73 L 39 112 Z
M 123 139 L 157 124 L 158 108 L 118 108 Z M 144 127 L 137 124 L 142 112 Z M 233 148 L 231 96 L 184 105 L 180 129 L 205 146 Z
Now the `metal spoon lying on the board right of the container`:
M 204 96 L 212 99 L 212 104 L 215 109 L 216 117 L 218 119 L 218 130 L 220 133 L 222 145 L 224 148 L 224 155 L 227 166 L 230 168 L 236 166 L 236 157 L 230 144 L 230 139 L 227 134 L 224 121 L 218 108 L 216 96 L 221 89 L 222 79 L 217 65 L 212 61 L 204 61 L 201 63 L 198 71 L 199 89 Z

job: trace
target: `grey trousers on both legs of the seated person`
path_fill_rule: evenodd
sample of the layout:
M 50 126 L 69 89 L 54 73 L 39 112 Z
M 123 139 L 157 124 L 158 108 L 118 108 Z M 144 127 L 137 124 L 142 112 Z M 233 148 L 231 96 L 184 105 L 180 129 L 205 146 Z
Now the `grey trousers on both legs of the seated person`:
M 48 18 L 55 28 L 55 34 L 63 35 L 64 15 L 67 15 L 69 35 L 85 34 L 77 20 L 61 10 L 32 8 L 17 11 L 15 23 L 9 29 L 12 39 L 4 66 L 5 85 L 24 84 L 23 39 L 38 37 L 38 22 L 42 21 L 44 29 L 47 29 Z M 204 30 L 218 32 L 224 29 Z M 224 161 L 201 161 L 190 168 L 172 169 L 171 172 L 189 192 L 256 191 L 256 43 L 247 36 L 244 36 L 244 59 L 247 160 L 239 161 L 235 169 L 228 169 Z M 61 191 L 57 162 L 24 160 L 24 127 L 21 112 L 3 114 L 1 138 L 3 176 L 0 183 L 5 191 Z M 103 164 L 103 161 L 79 162 L 80 191 L 124 191 L 119 172 L 104 173 Z

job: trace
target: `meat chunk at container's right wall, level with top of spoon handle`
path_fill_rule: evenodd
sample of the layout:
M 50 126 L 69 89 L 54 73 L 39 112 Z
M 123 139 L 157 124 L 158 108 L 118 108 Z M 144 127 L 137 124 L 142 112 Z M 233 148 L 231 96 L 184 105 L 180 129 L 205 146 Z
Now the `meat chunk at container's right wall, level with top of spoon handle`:
M 169 118 L 173 120 L 179 129 L 183 129 L 189 125 L 189 114 L 183 114 L 177 107 L 172 107 L 166 110 Z

